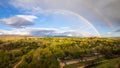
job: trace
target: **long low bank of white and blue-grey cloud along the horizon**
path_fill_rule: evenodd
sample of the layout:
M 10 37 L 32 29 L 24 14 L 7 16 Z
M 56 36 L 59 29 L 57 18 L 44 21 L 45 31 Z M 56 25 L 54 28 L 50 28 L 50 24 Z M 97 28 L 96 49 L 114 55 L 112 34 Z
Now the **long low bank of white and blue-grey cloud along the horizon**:
M 61 31 L 55 28 L 25 28 L 25 29 L 12 29 L 0 30 L 0 35 L 31 35 L 31 36 L 73 36 L 73 37 L 90 37 L 92 35 L 79 32 L 76 30 Z

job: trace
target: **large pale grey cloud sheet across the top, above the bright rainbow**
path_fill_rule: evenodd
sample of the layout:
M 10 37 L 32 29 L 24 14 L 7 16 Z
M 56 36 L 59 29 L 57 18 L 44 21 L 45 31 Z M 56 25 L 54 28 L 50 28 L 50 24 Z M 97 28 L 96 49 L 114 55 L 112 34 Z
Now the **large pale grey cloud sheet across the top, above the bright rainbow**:
M 102 24 L 99 28 L 111 23 L 114 27 L 120 25 L 119 0 L 10 0 L 9 3 L 22 12 L 32 14 L 54 9 L 68 10 L 85 17 L 94 25 Z

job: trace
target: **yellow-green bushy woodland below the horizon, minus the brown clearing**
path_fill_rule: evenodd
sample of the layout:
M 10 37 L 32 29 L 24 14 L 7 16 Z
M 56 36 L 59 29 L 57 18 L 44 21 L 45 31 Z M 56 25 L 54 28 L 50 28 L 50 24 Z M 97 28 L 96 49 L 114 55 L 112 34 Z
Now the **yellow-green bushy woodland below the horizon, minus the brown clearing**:
M 23 61 L 18 68 L 32 66 L 34 68 L 59 68 L 56 58 L 78 59 L 80 56 L 94 56 L 93 52 L 100 52 L 100 55 L 107 54 L 108 57 L 112 56 L 112 53 L 119 54 L 119 42 L 119 39 L 109 38 L 0 37 L 0 68 L 13 68 L 20 59 Z M 32 50 L 34 51 L 31 53 Z M 94 61 L 79 62 L 64 68 L 77 68 L 92 62 Z

